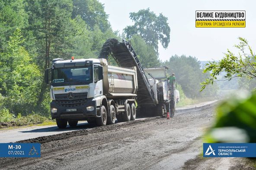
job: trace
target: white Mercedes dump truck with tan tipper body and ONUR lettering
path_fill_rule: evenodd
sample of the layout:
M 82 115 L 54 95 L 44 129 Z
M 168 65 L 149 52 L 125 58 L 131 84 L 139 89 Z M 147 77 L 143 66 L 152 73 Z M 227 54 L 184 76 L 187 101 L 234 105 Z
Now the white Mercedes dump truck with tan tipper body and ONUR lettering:
M 59 128 L 67 122 L 72 127 L 83 120 L 104 126 L 116 118 L 136 118 L 136 67 L 110 66 L 106 59 L 54 59 L 45 78 L 51 85 L 51 117 Z

